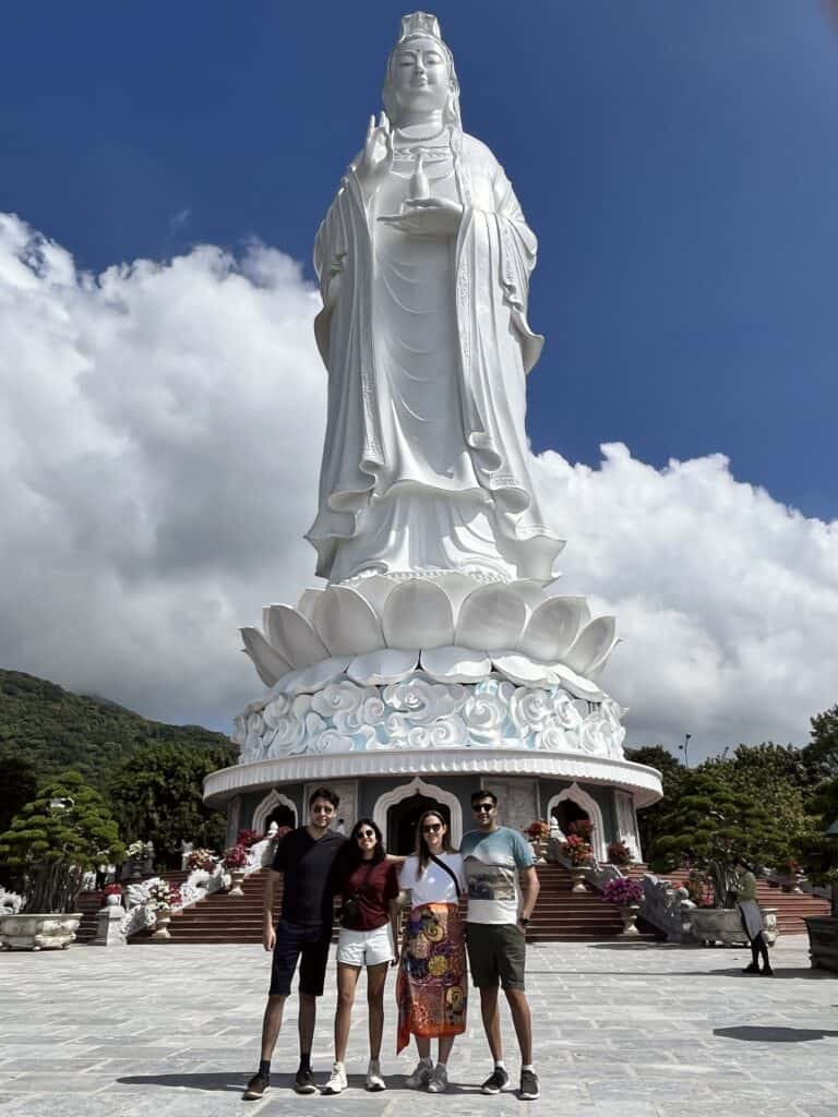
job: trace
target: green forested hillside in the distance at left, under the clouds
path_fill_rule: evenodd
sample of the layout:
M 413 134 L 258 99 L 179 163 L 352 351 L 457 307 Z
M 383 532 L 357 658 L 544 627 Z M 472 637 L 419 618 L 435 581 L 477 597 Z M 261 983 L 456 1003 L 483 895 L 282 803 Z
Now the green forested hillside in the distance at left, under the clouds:
M 0 669 L 0 747 L 11 746 L 44 777 L 67 768 L 104 787 L 114 768 L 142 745 L 221 746 L 235 763 L 236 750 L 222 733 L 199 725 L 165 725 L 105 698 L 75 695 L 22 671 Z

